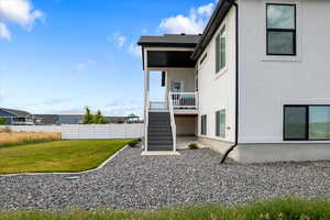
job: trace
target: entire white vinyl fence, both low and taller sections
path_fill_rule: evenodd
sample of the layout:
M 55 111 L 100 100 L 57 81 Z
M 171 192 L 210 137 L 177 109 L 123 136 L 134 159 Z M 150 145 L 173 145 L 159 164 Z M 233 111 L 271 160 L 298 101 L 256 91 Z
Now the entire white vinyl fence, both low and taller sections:
M 14 132 L 61 132 L 62 139 L 139 139 L 144 124 L 64 124 L 64 125 L 0 125 Z

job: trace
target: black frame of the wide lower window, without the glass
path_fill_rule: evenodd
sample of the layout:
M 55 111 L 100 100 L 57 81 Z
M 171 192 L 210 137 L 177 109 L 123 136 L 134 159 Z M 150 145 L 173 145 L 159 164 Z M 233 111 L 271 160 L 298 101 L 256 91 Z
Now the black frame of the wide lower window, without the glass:
M 290 108 L 306 108 L 306 136 L 305 139 L 285 139 L 285 109 Z M 283 107 L 283 141 L 330 141 L 330 139 L 309 139 L 309 108 L 310 107 L 330 107 L 330 105 L 284 105 Z

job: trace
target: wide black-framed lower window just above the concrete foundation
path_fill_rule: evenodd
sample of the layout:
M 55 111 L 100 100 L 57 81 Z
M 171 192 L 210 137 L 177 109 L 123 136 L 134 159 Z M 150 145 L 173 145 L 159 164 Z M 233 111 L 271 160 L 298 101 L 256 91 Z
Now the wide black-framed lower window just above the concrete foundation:
M 330 141 L 330 106 L 284 106 L 285 141 Z

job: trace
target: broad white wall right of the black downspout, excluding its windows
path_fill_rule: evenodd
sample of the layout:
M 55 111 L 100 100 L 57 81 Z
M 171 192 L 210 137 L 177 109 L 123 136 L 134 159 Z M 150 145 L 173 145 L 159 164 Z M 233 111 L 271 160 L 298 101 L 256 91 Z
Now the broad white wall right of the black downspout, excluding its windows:
M 265 55 L 267 2 L 297 4 L 296 57 Z M 239 143 L 293 147 L 283 141 L 283 106 L 330 105 L 329 11 L 324 0 L 240 1 Z

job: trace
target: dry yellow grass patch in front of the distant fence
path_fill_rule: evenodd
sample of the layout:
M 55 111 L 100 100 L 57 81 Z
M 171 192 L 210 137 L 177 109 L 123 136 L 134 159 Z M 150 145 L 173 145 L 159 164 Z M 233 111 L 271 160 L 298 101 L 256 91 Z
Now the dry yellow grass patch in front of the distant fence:
M 57 141 L 61 140 L 61 133 L 0 130 L 0 147 Z

